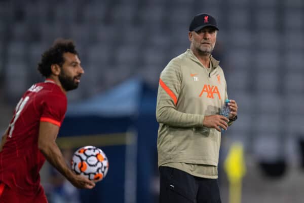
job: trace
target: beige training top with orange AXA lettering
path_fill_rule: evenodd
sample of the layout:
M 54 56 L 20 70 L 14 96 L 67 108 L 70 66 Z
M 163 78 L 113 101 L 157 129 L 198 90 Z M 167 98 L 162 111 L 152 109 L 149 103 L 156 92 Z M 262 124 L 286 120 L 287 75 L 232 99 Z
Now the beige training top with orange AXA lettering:
M 219 114 L 227 98 L 219 61 L 210 61 L 204 67 L 189 49 L 173 58 L 160 76 L 156 110 L 159 166 L 203 178 L 217 178 L 220 147 L 220 132 L 203 120 Z

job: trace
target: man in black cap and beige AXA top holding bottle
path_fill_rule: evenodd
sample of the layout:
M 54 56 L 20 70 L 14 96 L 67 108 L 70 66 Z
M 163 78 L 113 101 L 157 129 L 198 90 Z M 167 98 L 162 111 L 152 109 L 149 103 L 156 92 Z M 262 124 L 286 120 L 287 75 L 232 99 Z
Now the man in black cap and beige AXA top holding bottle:
M 190 49 L 173 58 L 160 76 L 156 117 L 160 202 L 221 202 L 217 164 L 221 129 L 237 119 L 230 99 L 229 118 L 220 109 L 228 98 L 219 61 L 211 56 L 216 20 L 198 14 L 189 26 Z

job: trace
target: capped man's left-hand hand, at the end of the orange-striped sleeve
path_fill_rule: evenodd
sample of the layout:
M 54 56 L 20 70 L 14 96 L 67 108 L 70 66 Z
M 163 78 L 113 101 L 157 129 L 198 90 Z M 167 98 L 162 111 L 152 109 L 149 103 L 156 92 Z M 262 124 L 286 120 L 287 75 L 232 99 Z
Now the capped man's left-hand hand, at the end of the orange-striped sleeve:
M 220 132 L 220 127 L 223 129 L 227 129 L 229 119 L 227 119 L 224 116 L 221 115 L 210 115 L 210 116 L 205 116 L 203 125 L 206 127 L 210 128 L 215 128 L 217 131 Z

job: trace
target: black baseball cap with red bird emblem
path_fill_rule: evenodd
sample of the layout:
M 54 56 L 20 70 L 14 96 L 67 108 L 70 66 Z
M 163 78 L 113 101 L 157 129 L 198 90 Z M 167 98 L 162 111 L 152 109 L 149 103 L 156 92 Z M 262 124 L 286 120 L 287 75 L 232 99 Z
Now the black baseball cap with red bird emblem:
M 199 31 L 203 27 L 207 26 L 212 26 L 218 30 L 215 18 L 207 13 L 200 13 L 192 19 L 189 26 L 189 31 Z

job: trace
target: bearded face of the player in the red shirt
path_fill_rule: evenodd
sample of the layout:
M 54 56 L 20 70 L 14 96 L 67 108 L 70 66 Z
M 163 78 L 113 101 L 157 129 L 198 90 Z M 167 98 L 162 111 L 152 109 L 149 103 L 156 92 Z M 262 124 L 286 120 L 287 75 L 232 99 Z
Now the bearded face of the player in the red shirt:
M 63 54 L 64 63 L 61 65 L 59 81 L 66 91 L 76 89 L 84 70 L 77 55 L 66 52 Z

